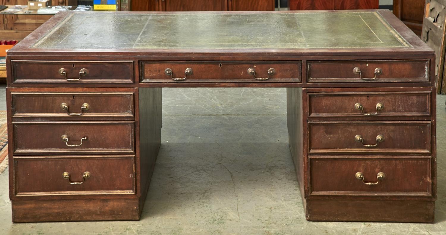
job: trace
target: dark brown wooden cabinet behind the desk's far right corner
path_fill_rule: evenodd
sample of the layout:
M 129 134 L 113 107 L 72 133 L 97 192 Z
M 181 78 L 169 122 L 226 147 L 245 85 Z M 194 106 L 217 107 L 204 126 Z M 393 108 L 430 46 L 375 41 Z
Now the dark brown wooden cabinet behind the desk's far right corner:
M 425 0 L 393 0 L 393 14 L 409 29 L 421 35 Z

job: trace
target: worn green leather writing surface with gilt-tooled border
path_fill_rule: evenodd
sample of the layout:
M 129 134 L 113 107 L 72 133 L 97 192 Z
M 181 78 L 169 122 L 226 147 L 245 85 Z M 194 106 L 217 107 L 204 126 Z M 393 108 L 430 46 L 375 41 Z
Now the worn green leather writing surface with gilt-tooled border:
M 378 12 L 73 13 L 33 48 L 305 49 L 411 47 Z

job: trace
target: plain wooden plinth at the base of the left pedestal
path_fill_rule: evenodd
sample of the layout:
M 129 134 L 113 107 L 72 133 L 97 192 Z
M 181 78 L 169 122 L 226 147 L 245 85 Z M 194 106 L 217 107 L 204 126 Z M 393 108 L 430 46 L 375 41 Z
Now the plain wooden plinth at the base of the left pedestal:
M 11 204 L 14 223 L 140 219 L 135 198 L 17 200 Z

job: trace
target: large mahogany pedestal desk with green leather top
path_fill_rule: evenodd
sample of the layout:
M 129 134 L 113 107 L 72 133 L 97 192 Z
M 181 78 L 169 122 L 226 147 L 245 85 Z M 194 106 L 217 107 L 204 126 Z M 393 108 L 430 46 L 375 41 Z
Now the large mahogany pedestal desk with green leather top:
M 388 10 L 60 12 L 8 51 L 12 220 L 139 219 L 161 87 L 287 87 L 306 219 L 432 223 L 434 61 Z

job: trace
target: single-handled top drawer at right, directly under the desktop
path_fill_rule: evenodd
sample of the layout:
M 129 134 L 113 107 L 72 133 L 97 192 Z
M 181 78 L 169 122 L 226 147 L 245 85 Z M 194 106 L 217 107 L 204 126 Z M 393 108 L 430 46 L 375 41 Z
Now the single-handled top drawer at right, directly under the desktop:
M 309 61 L 308 82 L 429 82 L 429 60 Z M 376 68 L 382 73 L 373 80 Z

